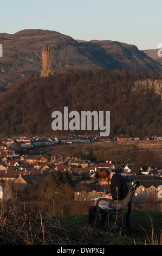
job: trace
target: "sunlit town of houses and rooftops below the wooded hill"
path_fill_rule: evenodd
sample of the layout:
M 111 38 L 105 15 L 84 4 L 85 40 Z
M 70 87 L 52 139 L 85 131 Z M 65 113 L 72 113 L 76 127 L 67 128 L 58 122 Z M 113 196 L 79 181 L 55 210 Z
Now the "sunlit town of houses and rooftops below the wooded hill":
M 150 166 L 140 166 L 140 172 L 133 171 L 133 163 L 124 164 L 114 162 L 111 159 L 105 161 L 94 161 L 93 159 L 81 159 L 72 155 L 56 155 L 57 147 L 63 145 L 93 145 L 95 143 L 133 143 L 139 142 L 139 138 L 126 135 L 111 137 L 99 136 L 42 136 L 27 138 L 1 138 L 0 145 L 0 196 L 1 202 L 10 202 L 15 193 L 18 194 L 27 187 L 36 184 L 41 178 L 46 178 L 51 170 L 66 173 L 72 177 L 75 186 L 74 200 L 88 202 L 90 198 L 100 197 L 103 188 L 98 185 L 94 173 L 98 168 L 111 168 L 119 172 L 131 187 L 136 180 L 140 184 L 133 196 L 133 202 L 139 205 L 147 202 L 157 203 L 160 210 L 161 197 L 158 197 L 162 188 L 162 169 Z M 161 137 L 154 136 L 152 141 L 144 137 L 141 143 L 156 143 L 161 146 Z M 160 150 L 158 147 L 157 150 Z M 37 154 L 34 154 L 37 153 Z M 157 207 L 157 206 L 156 206 Z

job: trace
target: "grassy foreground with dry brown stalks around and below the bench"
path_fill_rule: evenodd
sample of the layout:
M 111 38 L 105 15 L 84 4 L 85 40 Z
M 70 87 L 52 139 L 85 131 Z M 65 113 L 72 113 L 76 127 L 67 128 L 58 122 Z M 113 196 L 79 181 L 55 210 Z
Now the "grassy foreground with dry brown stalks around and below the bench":
M 42 217 L 25 209 L 0 211 L 0 245 L 162 245 L 160 211 L 132 210 L 131 228 L 87 227 L 88 216 Z

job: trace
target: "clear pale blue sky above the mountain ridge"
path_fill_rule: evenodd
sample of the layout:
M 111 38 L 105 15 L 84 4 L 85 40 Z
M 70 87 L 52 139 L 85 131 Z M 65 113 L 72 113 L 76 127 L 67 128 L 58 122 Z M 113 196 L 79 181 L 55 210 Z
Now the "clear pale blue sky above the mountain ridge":
M 159 0 L 5 0 L 0 10 L 0 33 L 40 28 L 74 39 L 126 42 L 139 50 L 162 44 Z

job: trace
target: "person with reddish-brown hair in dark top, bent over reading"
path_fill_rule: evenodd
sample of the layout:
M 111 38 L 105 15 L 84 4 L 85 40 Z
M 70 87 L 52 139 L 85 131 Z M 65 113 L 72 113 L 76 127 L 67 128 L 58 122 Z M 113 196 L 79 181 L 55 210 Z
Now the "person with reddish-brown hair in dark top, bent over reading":
M 124 199 L 128 194 L 128 187 L 126 180 L 120 175 L 119 173 L 111 172 L 111 170 L 100 168 L 96 170 L 95 177 L 99 180 L 99 183 L 101 182 L 107 182 L 109 183 L 109 180 L 111 180 L 111 189 L 109 194 L 103 194 L 102 197 L 113 199 L 113 200 L 121 200 Z M 101 204 L 102 204 L 101 200 Z M 95 201 L 89 204 L 89 212 L 88 212 L 88 224 L 92 227 L 95 225 Z M 111 208 L 114 210 L 120 210 L 122 208 L 121 204 L 113 204 L 109 202 L 104 202 L 105 205 L 107 205 L 107 208 Z

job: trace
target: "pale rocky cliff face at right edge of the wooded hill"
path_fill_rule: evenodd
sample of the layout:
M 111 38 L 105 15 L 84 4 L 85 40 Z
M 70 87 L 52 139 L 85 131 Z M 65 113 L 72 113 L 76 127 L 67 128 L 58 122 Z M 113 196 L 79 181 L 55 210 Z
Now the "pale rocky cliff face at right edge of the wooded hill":
M 162 99 L 162 81 L 161 80 L 145 79 L 142 81 L 136 81 L 134 82 L 133 90 L 137 90 L 138 88 L 154 89 L 155 93 L 160 94 Z

